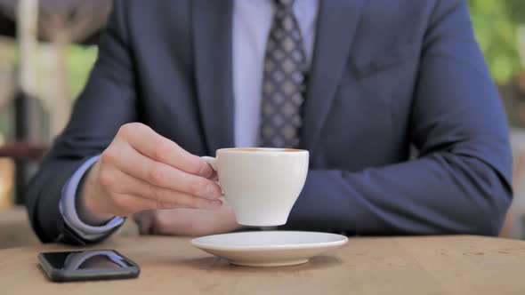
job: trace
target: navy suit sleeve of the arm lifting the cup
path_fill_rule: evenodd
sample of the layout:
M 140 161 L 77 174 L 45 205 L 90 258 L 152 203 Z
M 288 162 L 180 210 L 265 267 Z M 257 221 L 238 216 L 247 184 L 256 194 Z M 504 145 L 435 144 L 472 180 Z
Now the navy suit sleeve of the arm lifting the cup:
M 125 1 L 115 2 L 85 91 L 75 103 L 68 126 L 29 184 L 29 219 L 44 243 L 84 244 L 107 236 L 86 241 L 75 234 L 62 219 L 59 200 L 73 172 L 88 158 L 101 154 L 121 125 L 136 120 L 132 53 L 128 47 L 123 5 Z

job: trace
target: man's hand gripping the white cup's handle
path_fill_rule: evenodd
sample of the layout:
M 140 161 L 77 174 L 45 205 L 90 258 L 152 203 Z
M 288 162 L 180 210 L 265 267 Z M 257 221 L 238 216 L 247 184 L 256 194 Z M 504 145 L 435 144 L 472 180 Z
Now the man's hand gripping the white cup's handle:
M 218 209 L 214 170 L 144 124 L 125 124 L 93 165 L 79 196 L 94 219 L 172 208 Z

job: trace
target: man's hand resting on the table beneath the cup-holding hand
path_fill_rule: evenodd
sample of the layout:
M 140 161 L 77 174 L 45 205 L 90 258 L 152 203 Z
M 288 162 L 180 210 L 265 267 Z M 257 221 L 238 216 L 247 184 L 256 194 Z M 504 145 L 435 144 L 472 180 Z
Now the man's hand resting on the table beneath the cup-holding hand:
M 142 211 L 133 215 L 141 235 L 215 235 L 240 227 L 230 207 Z

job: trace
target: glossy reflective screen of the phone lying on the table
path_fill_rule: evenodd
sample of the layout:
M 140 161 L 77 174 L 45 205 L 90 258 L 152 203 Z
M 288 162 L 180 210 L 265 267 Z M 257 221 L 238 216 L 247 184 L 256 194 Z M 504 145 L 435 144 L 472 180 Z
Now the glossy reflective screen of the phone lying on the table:
M 44 259 L 55 269 L 117 269 L 133 267 L 115 251 L 68 251 L 43 253 Z

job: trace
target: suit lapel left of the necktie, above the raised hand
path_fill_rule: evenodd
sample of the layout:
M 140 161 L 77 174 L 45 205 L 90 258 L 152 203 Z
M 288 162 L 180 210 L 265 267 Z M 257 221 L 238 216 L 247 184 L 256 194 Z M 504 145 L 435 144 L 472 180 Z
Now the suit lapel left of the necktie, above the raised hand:
M 193 48 L 200 117 L 208 152 L 233 147 L 232 2 L 193 1 Z

